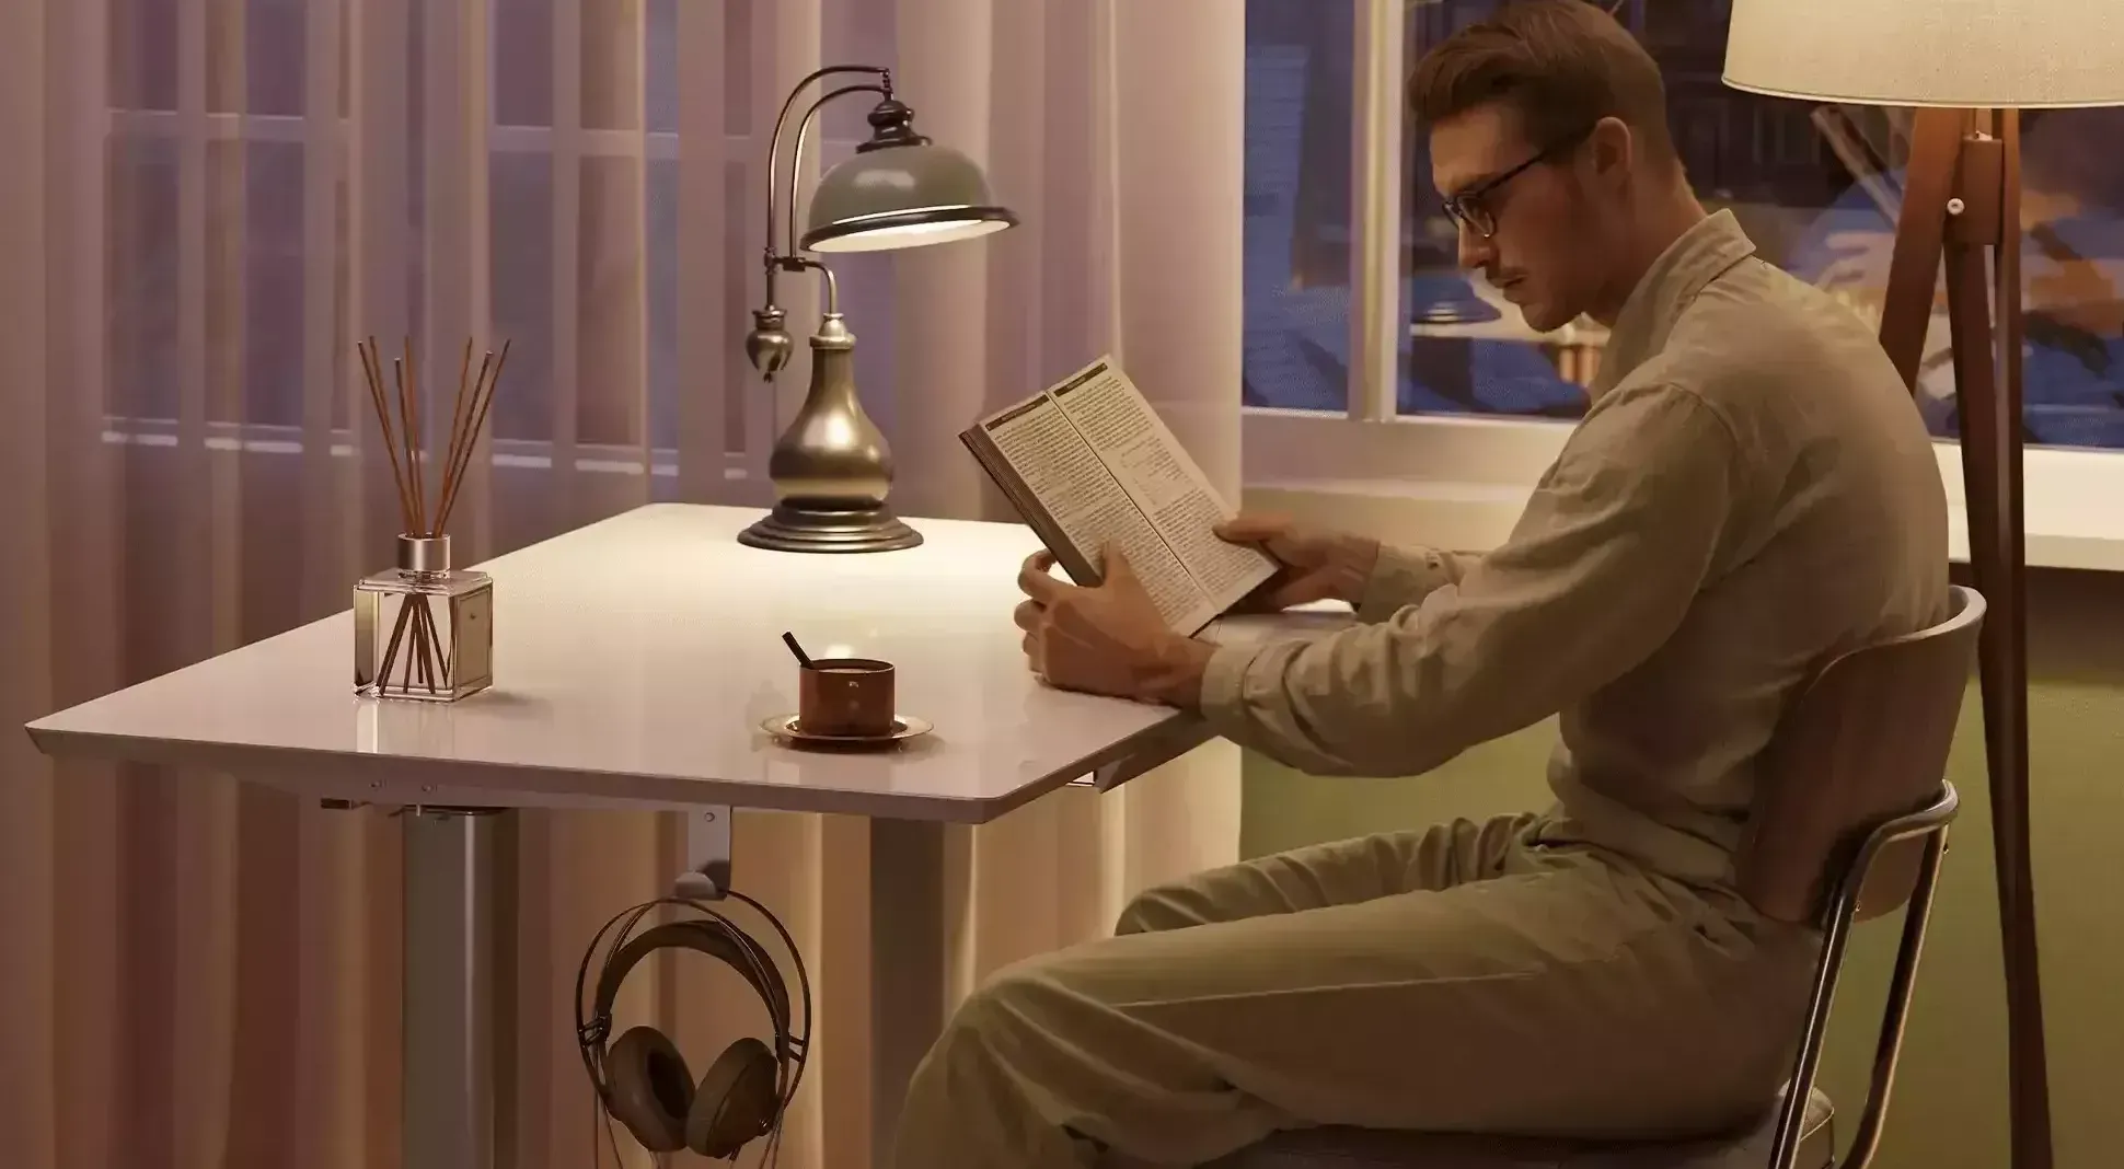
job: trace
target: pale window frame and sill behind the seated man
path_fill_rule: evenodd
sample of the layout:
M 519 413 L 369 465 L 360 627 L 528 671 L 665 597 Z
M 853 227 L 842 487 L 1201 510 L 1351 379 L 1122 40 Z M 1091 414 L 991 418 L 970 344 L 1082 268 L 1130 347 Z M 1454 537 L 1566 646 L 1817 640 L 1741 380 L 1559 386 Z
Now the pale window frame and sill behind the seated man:
M 1247 507 L 1317 516 L 1459 552 L 1504 543 L 1572 422 L 1398 414 L 1406 0 L 1351 0 L 1349 405 L 1240 405 Z M 1967 560 L 1960 443 L 1933 439 L 1952 556 Z M 2028 566 L 2124 571 L 2124 450 L 2028 446 Z

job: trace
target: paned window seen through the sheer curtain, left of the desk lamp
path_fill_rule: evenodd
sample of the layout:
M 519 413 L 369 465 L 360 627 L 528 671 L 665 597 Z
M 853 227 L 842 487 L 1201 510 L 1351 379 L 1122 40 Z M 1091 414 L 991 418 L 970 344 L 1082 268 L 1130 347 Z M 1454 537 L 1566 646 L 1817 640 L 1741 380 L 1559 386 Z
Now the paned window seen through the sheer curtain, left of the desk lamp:
M 299 452 L 319 356 L 350 382 L 350 333 L 374 329 L 361 303 L 397 299 L 416 346 L 450 346 L 421 333 L 438 272 L 457 263 L 448 280 L 478 289 L 440 295 L 484 301 L 493 335 L 512 342 L 508 392 L 486 422 L 497 463 L 544 465 L 556 409 L 567 412 L 556 388 L 567 386 L 578 471 L 641 473 L 648 452 L 669 482 L 682 322 L 680 259 L 667 244 L 682 204 L 686 2 L 108 0 L 110 441 L 170 446 L 185 403 L 204 401 L 217 450 Z M 722 87 L 722 142 L 709 153 L 720 153 L 733 208 L 716 252 L 729 320 L 714 327 L 739 335 L 760 295 L 756 208 L 784 98 L 763 95 L 767 78 L 752 68 L 769 42 L 771 28 L 756 19 L 765 11 L 767 0 L 722 4 L 718 57 L 701 62 Z M 828 0 L 822 51 L 890 66 L 892 21 L 890 4 Z M 455 127 L 440 87 L 472 59 L 484 62 L 486 123 Z M 576 93 L 573 108 L 561 93 Z M 862 115 L 862 102 L 824 110 L 807 157 L 824 170 L 852 153 L 869 134 Z M 438 161 L 444 134 L 484 161 Z M 784 138 L 784 178 L 788 146 Z M 457 221 L 429 206 L 438 168 L 450 168 L 450 182 L 484 182 L 486 206 L 469 216 L 478 246 L 455 240 Z M 357 242 L 363 202 L 365 223 L 395 240 Z M 378 214 L 376 204 L 393 210 Z M 482 272 L 469 272 L 474 263 Z M 357 289 L 378 276 L 391 289 Z M 890 333 L 890 267 L 850 265 L 841 295 Z M 314 335 L 319 306 L 325 337 Z M 395 337 L 376 331 L 389 350 Z M 733 463 L 756 446 L 763 463 L 773 409 L 758 403 L 771 392 L 739 369 L 737 346 L 726 348 L 731 384 L 754 392 L 724 395 L 724 446 Z M 563 361 L 571 367 L 556 369 Z M 890 361 L 888 344 L 858 354 L 871 378 Z M 448 409 L 448 386 L 429 380 L 431 409 Z M 888 424 L 890 401 L 873 405 L 873 418 Z M 333 426 L 374 426 L 359 386 L 336 392 Z

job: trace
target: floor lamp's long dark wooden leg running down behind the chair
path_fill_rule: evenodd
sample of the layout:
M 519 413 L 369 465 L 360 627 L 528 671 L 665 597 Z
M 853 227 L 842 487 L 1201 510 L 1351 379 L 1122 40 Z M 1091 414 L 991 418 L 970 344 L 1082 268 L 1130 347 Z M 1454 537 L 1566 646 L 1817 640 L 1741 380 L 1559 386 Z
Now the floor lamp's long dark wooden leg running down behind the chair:
M 2028 857 L 2028 626 L 2022 513 L 2020 246 L 2011 163 L 2003 142 L 1973 142 L 1963 157 L 1963 216 L 1943 240 L 1954 386 L 1963 431 L 1963 496 L 1969 566 L 1990 611 L 1977 643 L 1984 757 L 1992 798 L 1999 929 L 2005 942 L 2009 1107 L 2016 1169 L 2050 1169 L 2050 1084 L 2035 946 L 2035 878 Z M 2003 225 L 1994 229 L 1992 225 Z M 1986 246 L 2001 252 L 1992 346 Z M 1997 354 L 1997 356 L 1994 356 Z M 2003 378 L 2001 367 L 2003 365 Z

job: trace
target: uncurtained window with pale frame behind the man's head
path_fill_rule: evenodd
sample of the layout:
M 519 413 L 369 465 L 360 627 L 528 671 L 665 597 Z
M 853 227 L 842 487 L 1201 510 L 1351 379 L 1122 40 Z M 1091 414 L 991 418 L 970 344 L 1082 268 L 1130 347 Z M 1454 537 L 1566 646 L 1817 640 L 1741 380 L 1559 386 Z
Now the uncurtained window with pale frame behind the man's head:
M 1425 138 L 1406 115 L 1406 72 L 1423 49 L 1497 6 L 1247 0 L 1249 482 L 1510 494 L 1531 486 L 1582 412 L 1601 327 L 1534 335 L 1457 272 Z M 1725 87 L 1727 11 L 1725 0 L 1614 4 L 1665 74 L 1699 199 L 1731 208 L 1763 257 L 1878 318 L 1907 110 Z M 2022 129 L 2024 420 L 2033 448 L 2056 448 L 2031 450 L 2035 539 L 2037 496 L 2056 488 L 2043 475 L 2069 475 L 2067 494 L 2090 473 L 2124 479 L 2124 460 L 2090 454 L 2124 450 L 2124 155 L 2105 146 L 2124 134 L 2124 110 L 2031 110 Z M 1935 437 L 1952 439 L 1943 314 L 1941 295 L 1920 401 Z M 1943 441 L 1958 499 L 1956 460 Z

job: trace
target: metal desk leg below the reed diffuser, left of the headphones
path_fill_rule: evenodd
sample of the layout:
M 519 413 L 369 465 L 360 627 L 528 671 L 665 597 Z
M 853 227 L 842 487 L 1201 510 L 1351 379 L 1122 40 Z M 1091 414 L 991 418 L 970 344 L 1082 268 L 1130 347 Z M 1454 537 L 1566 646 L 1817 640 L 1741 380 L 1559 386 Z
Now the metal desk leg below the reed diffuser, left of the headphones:
M 493 813 L 408 808 L 404 1169 L 495 1163 Z

